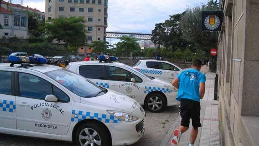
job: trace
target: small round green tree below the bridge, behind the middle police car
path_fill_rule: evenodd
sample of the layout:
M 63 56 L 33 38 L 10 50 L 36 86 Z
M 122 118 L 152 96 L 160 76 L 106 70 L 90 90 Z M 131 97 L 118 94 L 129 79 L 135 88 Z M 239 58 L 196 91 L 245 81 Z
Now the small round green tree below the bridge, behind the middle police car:
M 129 58 L 130 53 L 132 52 L 132 56 L 138 56 L 140 54 L 140 46 L 137 43 L 137 39 L 133 37 L 123 36 L 119 38 L 121 41 L 116 44 L 118 51 L 116 54 L 119 56 L 124 56 Z

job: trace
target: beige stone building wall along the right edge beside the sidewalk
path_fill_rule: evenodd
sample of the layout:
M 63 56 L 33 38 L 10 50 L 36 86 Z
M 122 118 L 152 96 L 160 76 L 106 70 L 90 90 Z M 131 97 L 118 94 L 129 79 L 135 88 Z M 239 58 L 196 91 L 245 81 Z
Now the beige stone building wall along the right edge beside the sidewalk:
M 218 42 L 223 145 L 259 145 L 259 1 L 221 0 Z

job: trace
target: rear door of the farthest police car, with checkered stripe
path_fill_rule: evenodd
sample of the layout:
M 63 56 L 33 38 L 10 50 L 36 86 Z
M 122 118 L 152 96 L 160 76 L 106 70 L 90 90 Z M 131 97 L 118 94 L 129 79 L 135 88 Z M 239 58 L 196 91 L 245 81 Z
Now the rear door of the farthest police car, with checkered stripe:
M 148 76 L 162 79 L 162 71 L 160 70 L 158 61 L 147 61 L 146 65 L 147 68 L 140 69 L 139 71 L 145 73 Z

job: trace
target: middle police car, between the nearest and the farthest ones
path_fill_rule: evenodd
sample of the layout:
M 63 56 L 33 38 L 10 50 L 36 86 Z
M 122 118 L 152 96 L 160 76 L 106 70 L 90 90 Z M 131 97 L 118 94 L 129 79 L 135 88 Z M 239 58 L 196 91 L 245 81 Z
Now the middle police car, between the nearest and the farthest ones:
M 72 62 L 67 66 L 90 81 L 107 89 L 123 93 L 145 105 L 152 112 L 178 105 L 177 89 L 170 83 L 147 76 L 134 68 L 114 62 L 115 57 L 100 56 L 99 61 Z

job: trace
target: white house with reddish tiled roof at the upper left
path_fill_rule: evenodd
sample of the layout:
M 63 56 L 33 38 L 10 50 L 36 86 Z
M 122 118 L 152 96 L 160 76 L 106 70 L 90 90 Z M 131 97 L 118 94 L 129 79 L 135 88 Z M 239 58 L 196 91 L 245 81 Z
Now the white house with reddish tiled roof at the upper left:
M 28 15 L 25 10 L 36 12 L 42 20 L 45 19 L 44 12 L 32 9 L 29 6 L 21 6 L 20 4 L 11 4 L 1 0 L 0 6 L 0 23 L 3 29 L 0 29 L 0 37 L 18 37 L 27 39 L 28 33 Z

